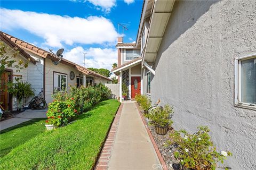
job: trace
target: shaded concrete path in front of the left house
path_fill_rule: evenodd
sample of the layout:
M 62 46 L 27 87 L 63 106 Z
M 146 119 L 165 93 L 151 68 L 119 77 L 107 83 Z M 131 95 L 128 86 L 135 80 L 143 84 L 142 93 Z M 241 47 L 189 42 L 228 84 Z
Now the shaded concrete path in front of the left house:
M 13 118 L 9 118 L 5 121 L 1 121 L 0 122 L 0 130 L 10 128 L 17 124 L 29 121 L 33 118 L 44 118 L 44 117 L 46 117 L 46 111 L 47 111 L 47 109 L 43 109 L 43 110 L 27 109 L 26 111 L 15 115 Z

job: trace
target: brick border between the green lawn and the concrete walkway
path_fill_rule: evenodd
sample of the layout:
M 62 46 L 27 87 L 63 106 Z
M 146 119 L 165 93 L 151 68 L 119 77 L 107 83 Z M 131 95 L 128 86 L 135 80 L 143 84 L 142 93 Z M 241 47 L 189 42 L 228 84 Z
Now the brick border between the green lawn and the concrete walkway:
M 115 115 L 114 121 L 111 124 L 111 128 L 108 132 L 108 136 L 106 138 L 106 141 L 104 143 L 103 148 L 101 149 L 100 156 L 98 159 L 98 162 L 95 166 L 95 170 L 106 170 L 108 169 L 110 157 L 111 157 L 111 151 L 114 146 L 114 140 L 116 137 L 116 132 L 117 132 L 117 127 L 119 124 L 122 108 L 123 108 L 123 103 L 121 103 L 120 107 L 118 108 L 118 111 Z

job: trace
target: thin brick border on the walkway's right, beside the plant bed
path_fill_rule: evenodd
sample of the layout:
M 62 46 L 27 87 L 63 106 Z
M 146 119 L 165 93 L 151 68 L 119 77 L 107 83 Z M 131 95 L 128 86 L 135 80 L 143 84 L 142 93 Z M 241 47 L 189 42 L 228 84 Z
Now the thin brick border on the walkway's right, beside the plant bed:
M 158 147 L 157 147 L 157 145 L 156 145 L 156 141 L 155 141 L 153 135 L 151 134 L 151 132 L 150 132 L 150 130 L 149 130 L 149 128 L 148 128 L 148 125 L 147 125 L 147 123 L 146 123 L 146 121 L 145 121 L 145 118 L 144 118 L 142 112 L 140 111 L 140 107 L 139 107 L 138 103 L 136 102 L 135 105 L 137 106 L 137 109 L 138 109 L 138 111 L 139 111 L 139 113 L 140 113 L 140 117 L 141 117 L 141 119 L 142 119 L 142 121 L 143 121 L 143 124 L 145 125 L 145 127 L 146 127 L 146 129 L 147 129 L 149 138 L 150 138 L 151 142 L 153 143 L 153 146 L 154 146 L 154 148 L 155 148 L 157 157 L 158 157 L 160 163 L 162 164 L 162 168 L 163 168 L 164 170 L 167 170 L 168 168 L 167 168 L 167 166 L 166 166 L 166 164 L 165 164 L 165 162 L 164 162 L 164 158 L 162 157 L 162 154 L 160 153 L 160 151 L 159 151 L 159 149 L 158 149 Z

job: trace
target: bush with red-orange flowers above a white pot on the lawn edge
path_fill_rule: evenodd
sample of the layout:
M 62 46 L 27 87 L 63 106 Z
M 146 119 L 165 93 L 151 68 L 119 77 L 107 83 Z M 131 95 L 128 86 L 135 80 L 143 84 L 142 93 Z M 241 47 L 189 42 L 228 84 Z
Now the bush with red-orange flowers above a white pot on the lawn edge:
M 74 118 L 79 111 L 77 111 L 76 101 L 67 93 L 57 93 L 54 95 L 54 100 L 49 104 L 46 112 L 48 120 L 46 124 L 54 124 L 56 126 L 66 125 Z

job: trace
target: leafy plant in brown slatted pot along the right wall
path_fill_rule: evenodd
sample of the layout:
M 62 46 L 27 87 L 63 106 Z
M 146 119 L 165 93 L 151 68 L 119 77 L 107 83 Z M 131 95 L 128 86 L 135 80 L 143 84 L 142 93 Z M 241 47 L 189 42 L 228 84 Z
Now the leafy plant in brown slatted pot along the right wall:
M 165 135 L 169 126 L 172 125 L 171 117 L 173 116 L 173 108 L 169 105 L 164 107 L 156 107 L 150 114 L 147 114 L 149 118 L 149 124 L 155 127 L 157 134 Z

